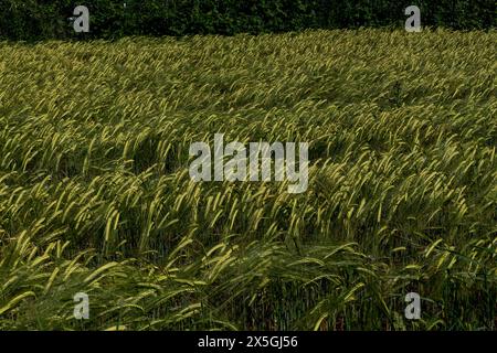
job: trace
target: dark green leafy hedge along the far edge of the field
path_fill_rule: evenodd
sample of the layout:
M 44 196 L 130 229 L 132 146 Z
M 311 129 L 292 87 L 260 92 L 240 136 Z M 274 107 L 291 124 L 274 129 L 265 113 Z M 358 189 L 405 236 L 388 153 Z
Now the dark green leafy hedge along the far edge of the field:
M 124 3 L 126 2 L 126 7 Z M 91 33 L 68 20 L 84 4 Z M 403 25 L 421 8 L 423 25 L 496 26 L 495 0 L 1 0 L 0 38 L 12 40 L 284 32 L 313 28 Z

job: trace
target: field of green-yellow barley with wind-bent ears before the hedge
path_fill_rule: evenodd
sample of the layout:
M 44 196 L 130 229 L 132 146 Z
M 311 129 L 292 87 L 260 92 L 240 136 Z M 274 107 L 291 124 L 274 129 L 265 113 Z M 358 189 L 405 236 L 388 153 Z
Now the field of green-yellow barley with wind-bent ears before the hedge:
M 0 329 L 496 330 L 496 43 L 0 42 Z M 191 181 L 214 133 L 308 142 L 307 191 Z

